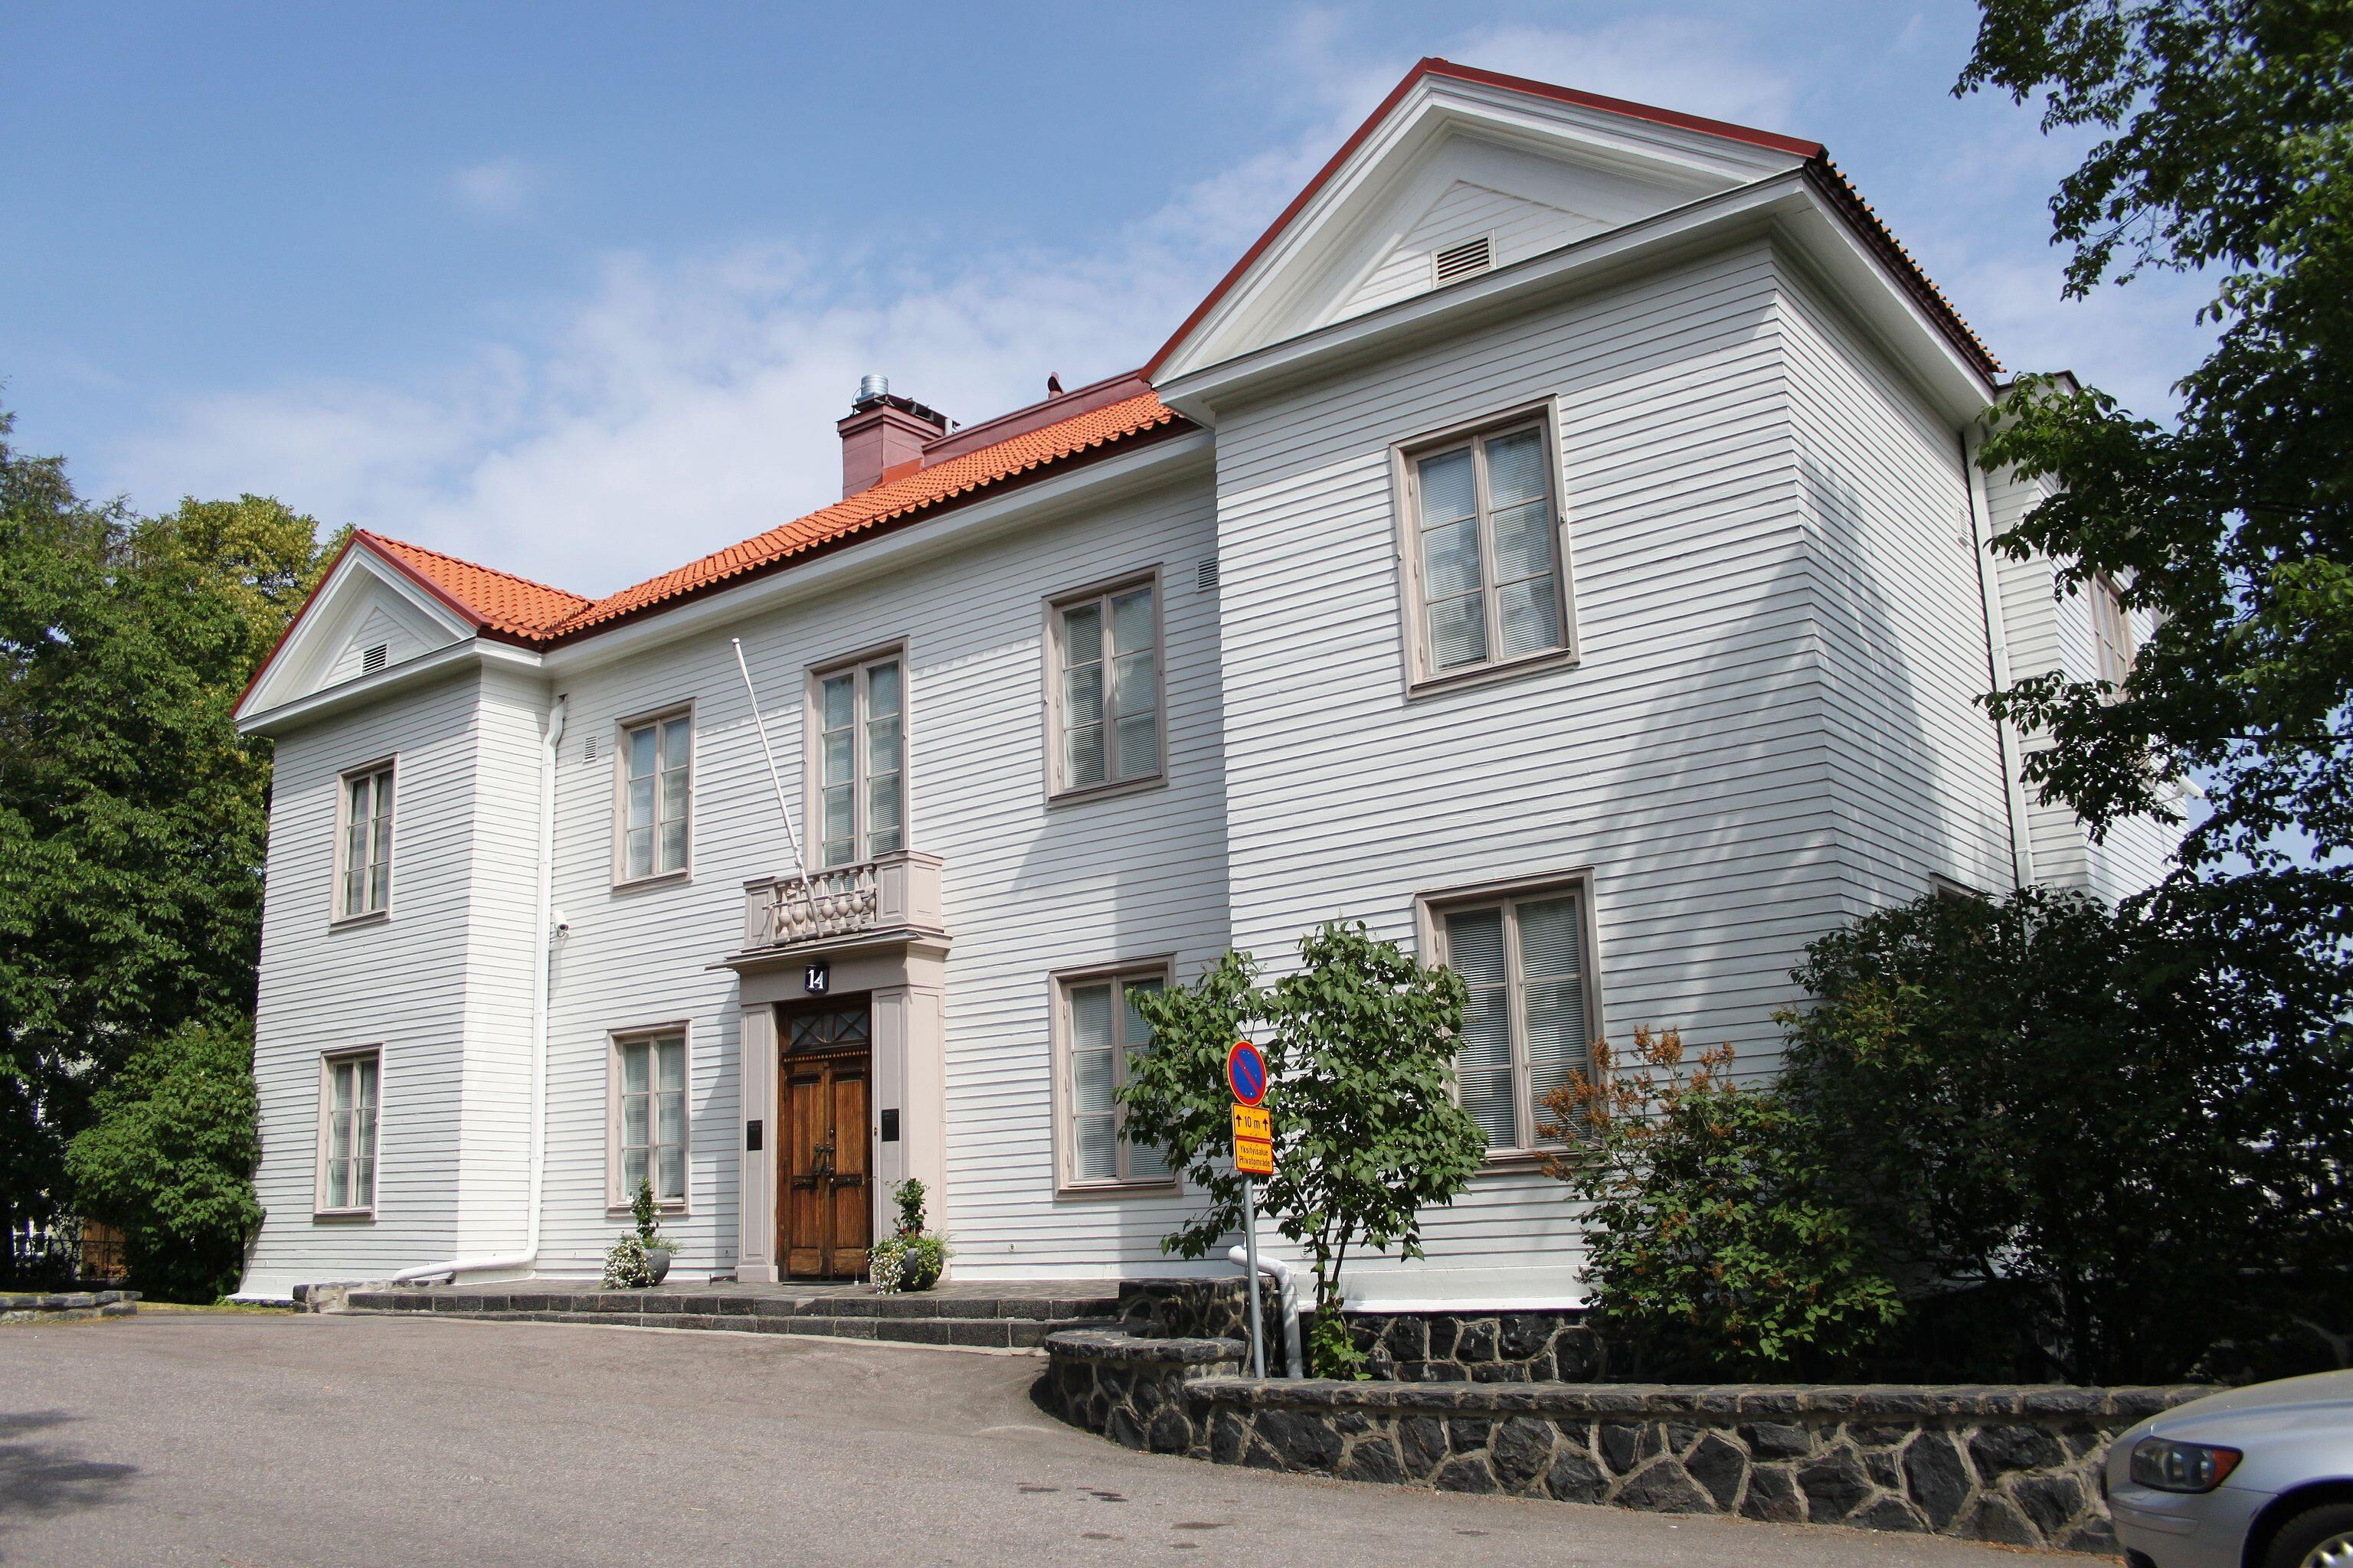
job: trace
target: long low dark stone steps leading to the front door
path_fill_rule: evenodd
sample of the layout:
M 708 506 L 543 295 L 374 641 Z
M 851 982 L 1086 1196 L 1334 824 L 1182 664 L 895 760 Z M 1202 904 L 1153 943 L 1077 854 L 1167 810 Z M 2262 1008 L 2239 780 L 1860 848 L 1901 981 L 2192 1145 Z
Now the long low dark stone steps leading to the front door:
M 769 1293 L 774 1291 L 774 1293 Z M 800 1333 L 833 1340 L 892 1340 L 901 1345 L 967 1345 L 979 1349 L 1040 1349 L 1061 1328 L 1099 1328 L 1118 1319 L 1118 1293 L 986 1295 L 972 1293 L 824 1293 L 748 1291 L 372 1291 L 339 1293 L 339 1305 L 313 1293 L 315 1312 L 496 1319 L 520 1324 L 602 1324 L 607 1328 L 711 1328 L 720 1333 Z

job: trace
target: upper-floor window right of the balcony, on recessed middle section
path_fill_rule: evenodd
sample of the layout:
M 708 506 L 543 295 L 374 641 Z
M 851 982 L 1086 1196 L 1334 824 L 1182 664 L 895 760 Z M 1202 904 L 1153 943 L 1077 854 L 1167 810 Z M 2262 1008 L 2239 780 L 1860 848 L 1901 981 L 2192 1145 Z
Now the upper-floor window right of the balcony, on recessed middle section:
M 1132 578 L 1049 604 L 1052 792 L 1162 776 L 1160 583 Z

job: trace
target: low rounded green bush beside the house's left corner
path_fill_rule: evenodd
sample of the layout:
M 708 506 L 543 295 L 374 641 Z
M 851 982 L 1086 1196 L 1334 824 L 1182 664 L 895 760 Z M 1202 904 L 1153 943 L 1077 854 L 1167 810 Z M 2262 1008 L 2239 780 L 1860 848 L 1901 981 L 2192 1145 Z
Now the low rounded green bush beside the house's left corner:
M 186 1023 L 141 1041 L 92 1112 L 66 1171 L 80 1213 L 122 1232 L 132 1284 L 195 1302 L 233 1291 L 261 1227 L 252 1027 Z

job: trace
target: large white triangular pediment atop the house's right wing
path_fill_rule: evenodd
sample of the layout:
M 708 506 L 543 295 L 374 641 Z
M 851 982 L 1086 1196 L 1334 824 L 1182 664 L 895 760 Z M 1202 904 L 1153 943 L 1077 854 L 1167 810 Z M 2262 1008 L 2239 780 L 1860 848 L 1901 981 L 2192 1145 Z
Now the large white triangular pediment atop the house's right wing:
M 1160 350 L 1151 378 L 1165 386 L 1786 174 L 1814 153 L 1788 136 L 1426 61 Z M 1442 252 L 1480 237 L 1485 266 L 1440 266 Z

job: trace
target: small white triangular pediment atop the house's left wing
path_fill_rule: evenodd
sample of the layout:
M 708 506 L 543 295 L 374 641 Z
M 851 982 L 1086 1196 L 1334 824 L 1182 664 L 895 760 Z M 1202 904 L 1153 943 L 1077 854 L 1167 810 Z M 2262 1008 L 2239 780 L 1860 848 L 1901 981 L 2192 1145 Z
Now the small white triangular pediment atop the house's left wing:
M 365 543 L 353 543 L 311 595 L 238 712 L 266 712 L 332 686 L 398 672 L 405 663 L 466 642 L 473 630 L 400 567 Z

